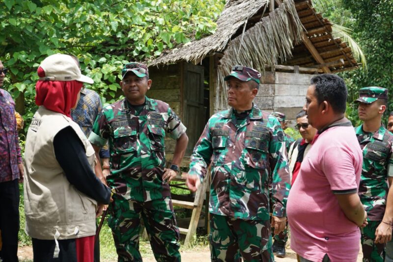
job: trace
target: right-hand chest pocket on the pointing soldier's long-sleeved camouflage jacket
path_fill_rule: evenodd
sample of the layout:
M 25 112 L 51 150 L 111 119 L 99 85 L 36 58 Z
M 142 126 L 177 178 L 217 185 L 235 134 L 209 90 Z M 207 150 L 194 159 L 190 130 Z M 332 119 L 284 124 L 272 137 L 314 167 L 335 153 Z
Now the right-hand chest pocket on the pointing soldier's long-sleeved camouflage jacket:
M 257 127 L 257 128 L 256 128 Z M 246 163 L 253 168 L 265 169 L 269 153 L 270 132 L 266 127 L 256 126 L 253 131 L 246 131 L 244 147 Z

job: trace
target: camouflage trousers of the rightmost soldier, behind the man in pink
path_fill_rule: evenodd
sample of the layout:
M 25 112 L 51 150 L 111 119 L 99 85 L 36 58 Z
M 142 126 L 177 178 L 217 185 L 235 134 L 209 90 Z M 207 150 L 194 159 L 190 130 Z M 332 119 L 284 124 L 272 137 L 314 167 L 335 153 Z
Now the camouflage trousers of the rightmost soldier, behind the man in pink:
M 375 231 L 381 221 L 368 221 L 368 225 L 360 230 L 364 262 L 383 262 L 385 260 L 385 245 L 376 244 Z

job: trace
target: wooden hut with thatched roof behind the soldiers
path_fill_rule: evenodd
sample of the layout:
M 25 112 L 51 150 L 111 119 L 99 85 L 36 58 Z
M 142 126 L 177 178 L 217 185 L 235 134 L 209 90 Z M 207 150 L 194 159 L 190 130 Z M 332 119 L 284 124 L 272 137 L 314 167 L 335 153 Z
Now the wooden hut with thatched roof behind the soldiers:
M 224 76 L 232 65 L 263 72 L 254 103 L 283 111 L 288 119 L 301 109 L 312 74 L 358 66 L 311 0 L 228 0 L 214 34 L 148 64 L 153 79 L 148 95 L 168 102 L 191 127 L 189 153 L 209 115 L 227 106 Z

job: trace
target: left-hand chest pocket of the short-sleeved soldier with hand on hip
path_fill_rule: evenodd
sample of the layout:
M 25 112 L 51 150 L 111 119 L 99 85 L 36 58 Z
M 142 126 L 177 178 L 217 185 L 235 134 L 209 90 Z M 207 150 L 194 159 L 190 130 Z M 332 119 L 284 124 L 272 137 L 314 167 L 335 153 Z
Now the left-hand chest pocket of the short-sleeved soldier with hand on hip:
M 137 151 L 138 133 L 136 128 L 119 127 L 113 131 L 113 149 L 116 154 Z

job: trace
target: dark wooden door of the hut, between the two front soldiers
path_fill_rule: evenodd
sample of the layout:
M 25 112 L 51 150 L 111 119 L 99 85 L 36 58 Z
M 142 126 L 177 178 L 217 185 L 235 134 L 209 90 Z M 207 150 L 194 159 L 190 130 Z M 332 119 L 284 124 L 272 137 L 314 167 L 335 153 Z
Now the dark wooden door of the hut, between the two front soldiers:
M 203 106 L 203 66 L 184 62 L 183 76 L 183 122 L 189 138 L 186 156 L 190 156 L 207 122 Z

